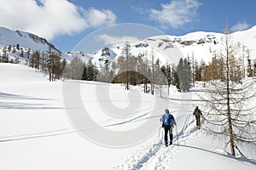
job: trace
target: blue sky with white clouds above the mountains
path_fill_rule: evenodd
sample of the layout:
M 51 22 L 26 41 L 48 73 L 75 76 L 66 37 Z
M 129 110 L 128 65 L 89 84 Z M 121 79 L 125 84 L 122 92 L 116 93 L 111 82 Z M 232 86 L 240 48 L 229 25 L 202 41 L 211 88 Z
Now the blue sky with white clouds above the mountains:
M 67 51 L 95 31 L 122 23 L 175 36 L 222 32 L 226 21 L 232 31 L 246 30 L 256 25 L 255 7 L 255 0 L 1 0 L 0 26 L 30 31 Z M 108 36 L 131 36 L 119 31 Z

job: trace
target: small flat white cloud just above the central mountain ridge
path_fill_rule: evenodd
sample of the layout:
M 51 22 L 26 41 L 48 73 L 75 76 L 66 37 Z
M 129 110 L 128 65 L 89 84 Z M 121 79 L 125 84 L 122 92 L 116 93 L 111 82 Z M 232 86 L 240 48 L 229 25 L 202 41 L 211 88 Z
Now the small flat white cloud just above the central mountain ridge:
M 103 41 L 104 45 L 120 45 L 125 44 L 125 42 L 141 42 L 137 37 L 129 37 L 129 36 L 123 36 L 123 37 L 115 37 L 110 36 L 108 34 L 102 34 L 96 37 L 97 40 Z

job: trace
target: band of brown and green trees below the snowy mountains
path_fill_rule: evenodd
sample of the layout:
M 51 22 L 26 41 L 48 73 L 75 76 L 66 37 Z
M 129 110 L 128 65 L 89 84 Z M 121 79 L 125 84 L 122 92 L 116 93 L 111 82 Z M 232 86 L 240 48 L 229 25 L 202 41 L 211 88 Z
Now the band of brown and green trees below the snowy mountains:
M 108 48 L 102 49 L 104 55 L 110 55 Z M 246 50 L 245 50 L 246 52 Z M 9 59 L 12 53 L 15 59 Z M 123 48 L 122 55 L 113 61 L 105 60 L 101 69 L 90 60 L 85 64 L 79 57 L 74 57 L 69 64 L 61 59 L 61 53 L 49 47 L 48 51 L 39 52 L 20 48 L 20 45 L 8 46 L 2 49 L 0 62 L 20 63 L 20 58 L 27 59 L 27 65 L 38 71 L 49 74 L 49 81 L 61 77 L 86 81 L 124 83 L 126 89 L 131 85 L 144 85 L 144 92 L 154 94 L 154 85 L 174 85 L 180 92 L 187 92 L 195 86 L 196 81 L 225 81 L 225 64 L 221 55 L 214 55 L 209 64 L 194 60 L 194 56 L 180 59 L 177 65 L 161 65 L 160 59 L 151 54 L 131 54 L 128 43 Z M 65 69 L 65 71 L 64 71 Z M 247 53 L 247 65 L 244 59 L 230 56 L 230 81 L 241 82 L 242 78 L 256 76 L 256 62 L 250 59 Z

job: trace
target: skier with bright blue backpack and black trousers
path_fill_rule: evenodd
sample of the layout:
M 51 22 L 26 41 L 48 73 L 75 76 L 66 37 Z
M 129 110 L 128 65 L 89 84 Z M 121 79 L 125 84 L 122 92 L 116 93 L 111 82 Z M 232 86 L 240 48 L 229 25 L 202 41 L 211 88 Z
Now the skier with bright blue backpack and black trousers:
M 161 122 L 163 122 L 162 127 L 165 129 L 165 144 L 168 146 L 168 132 L 170 137 L 170 145 L 172 144 L 173 134 L 172 134 L 172 127 L 173 125 L 176 125 L 175 119 L 172 116 L 172 114 L 169 113 L 169 110 L 165 110 L 165 115 L 163 115 L 160 119 Z

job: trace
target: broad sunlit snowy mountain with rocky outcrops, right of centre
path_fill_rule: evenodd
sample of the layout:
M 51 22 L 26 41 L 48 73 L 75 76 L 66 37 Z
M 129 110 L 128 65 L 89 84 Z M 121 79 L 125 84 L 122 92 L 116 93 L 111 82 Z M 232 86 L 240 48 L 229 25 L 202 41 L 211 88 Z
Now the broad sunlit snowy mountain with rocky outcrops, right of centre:
M 256 59 L 256 26 L 247 31 L 234 32 L 231 37 L 231 41 L 236 47 L 237 58 L 242 56 L 246 58 L 247 51 L 249 51 L 250 58 Z M 154 58 L 159 58 L 162 65 L 165 65 L 166 62 L 177 63 L 180 57 L 188 56 L 198 62 L 203 60 L 208 63 L 212 56 L 221 54 L 224 50 L 224 34 L 196 31 L 178 37 L 171 35 L 148 37 L 142 42 L 132 42 L 130 45 L 132 55 L 144 55 L 151 59 L 152 54 L 154 54 Z M 122 48 L 110 48 L 114 54 L 110 54 L 108 60 L 122 55 Z M 91 54 L 96 63 L 99 63 L 98 56 L 101 56 L 101 52 L 102 50 L 99 50 L 95 54 Z

